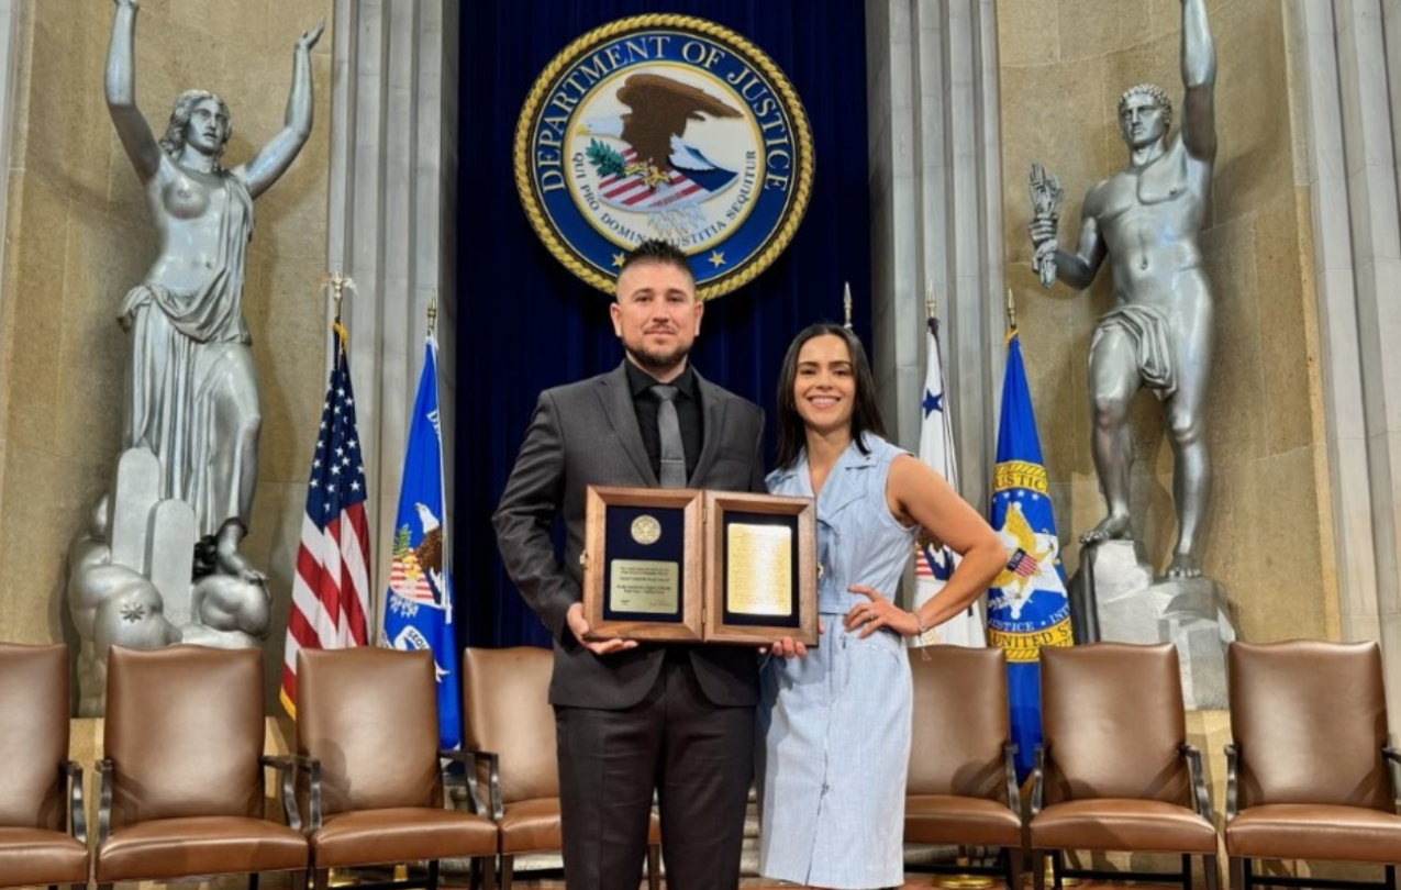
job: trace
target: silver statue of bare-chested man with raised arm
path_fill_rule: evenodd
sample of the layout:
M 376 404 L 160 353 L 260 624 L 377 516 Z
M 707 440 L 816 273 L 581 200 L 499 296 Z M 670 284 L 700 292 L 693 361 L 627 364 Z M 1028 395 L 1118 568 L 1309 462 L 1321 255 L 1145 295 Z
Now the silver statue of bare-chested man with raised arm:
M 1196 577 L 1202 573 L 1202 531 L 1212 489 L 1206 394 L 1215 336 L 1212 290 L 1196 234 L 1206 217 L 1216 160 L 1216 49 L 1206 1 L 1181 3 L 1187 87 L 1181 133 L 1168 137 L 1173 107 L 1160 87 L 1131 88 L 1119 100 L 1129 165 L 1090 189 L 1079 248 L 1063 251 L 1056 241 L 1051 198 L 1059 184 L 1040 164 L 1033 171 L 1033 200 L 1040 212 L 1030 228 L 1037 248 L 1034 266 L 1047 286 L 1049 266 L 1066 285 L 1089 287 L 1105 259 L 1114 279 L 1115 307 L 1098 321 L 1090 343 L 1094 467 L 1108 516 L 1080 535 L 1080 542 L 1132 538 L 1133 446 L 1125 420 L 1133 397 L 1147 387 L 1163 402 L 1175 456 L 1178 531 L 1167 575 Z

